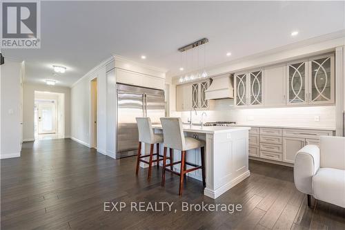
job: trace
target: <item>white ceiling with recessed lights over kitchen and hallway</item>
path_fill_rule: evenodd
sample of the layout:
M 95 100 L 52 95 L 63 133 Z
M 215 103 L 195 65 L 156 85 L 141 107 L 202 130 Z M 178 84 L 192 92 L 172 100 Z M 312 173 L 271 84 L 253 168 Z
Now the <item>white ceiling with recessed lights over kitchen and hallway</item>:
M 29 82 L 71 86 L 112 54 L 177 75 L 186 68 L 177 48 L 197 39 L 209 39 L 213 66 L 344 30 L 344 8 L 344 1 L 41 1 L 41 48 L 2 52 L 26 60 Z M 53 64 L 66 73 L 52 77 Z

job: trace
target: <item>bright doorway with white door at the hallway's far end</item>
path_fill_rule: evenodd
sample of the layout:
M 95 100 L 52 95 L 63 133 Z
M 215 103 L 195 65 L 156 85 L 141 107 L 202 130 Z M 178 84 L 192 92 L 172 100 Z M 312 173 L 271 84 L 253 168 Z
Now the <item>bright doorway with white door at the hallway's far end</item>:
M 64 94 L 34 91 L 34 140 L 64 138 Z

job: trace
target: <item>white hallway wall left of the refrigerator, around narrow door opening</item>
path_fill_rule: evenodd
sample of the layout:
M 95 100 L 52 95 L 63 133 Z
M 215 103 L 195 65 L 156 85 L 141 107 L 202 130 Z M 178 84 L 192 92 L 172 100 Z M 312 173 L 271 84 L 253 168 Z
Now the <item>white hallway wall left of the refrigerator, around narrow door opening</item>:
M 86 75 L 71 88 L 71 137 L 90 146 L 90 82 L 97 77 L 97 151 L 106 154 L 106 67 Z

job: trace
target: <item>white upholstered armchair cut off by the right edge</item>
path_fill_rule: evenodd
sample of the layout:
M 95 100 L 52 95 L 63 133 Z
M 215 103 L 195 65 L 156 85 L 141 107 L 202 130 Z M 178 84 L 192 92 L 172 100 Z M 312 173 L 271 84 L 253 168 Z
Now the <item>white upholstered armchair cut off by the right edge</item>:
M 345 137 L 320 137 L 320 147 L 299 150 L 293 169 L 295 186 L 308 195 L 345 208 Z

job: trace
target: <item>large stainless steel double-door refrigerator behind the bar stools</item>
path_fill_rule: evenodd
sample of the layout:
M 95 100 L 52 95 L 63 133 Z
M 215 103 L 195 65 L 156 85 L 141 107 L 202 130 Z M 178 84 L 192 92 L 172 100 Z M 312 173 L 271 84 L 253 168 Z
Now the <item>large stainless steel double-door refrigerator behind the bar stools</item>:
M 135 117 L 150 117 L 160 124 L 165 115 L 164 90 L 117 84 L 117 159 L 137 155 Z

